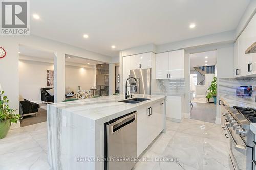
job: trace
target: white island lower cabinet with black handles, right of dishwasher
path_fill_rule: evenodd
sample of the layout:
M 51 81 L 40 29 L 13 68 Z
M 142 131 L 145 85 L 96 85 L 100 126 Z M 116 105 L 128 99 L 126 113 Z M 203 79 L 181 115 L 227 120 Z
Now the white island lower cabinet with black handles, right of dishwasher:
M 164 101 L 137 110 L 137 156 L 161 133 L 164 125 Z

